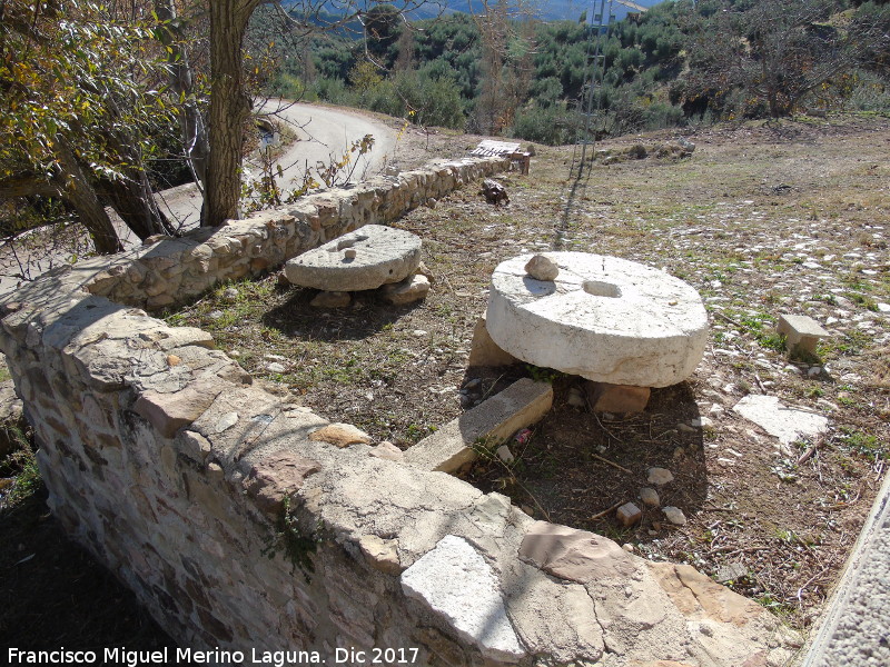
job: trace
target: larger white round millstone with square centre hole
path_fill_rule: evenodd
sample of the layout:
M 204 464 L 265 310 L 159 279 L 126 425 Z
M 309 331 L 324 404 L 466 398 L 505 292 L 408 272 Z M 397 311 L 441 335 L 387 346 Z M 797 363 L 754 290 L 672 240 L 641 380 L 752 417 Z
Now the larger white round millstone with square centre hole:
M 492 275 L 488 334 L 514 357 L 599 382 L 668 387 L 692 375 L 708 341 L 699 292 L 643 265 L 587 252 L 544 252 L 555 280 L 523 255 Z

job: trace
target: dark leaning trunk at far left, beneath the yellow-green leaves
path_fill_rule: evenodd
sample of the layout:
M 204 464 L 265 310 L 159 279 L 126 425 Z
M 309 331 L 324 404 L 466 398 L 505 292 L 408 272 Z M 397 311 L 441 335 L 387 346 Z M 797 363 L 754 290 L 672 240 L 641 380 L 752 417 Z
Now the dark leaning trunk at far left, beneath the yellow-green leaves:
M 77 157 L 61 136 L 56 137 L 59 165 L 61 169 L 53 176 L 52 182 L 62 192 L 62 197 L 75 207 L 80 222 L 92 237 L 99 255 L 112 255 L 123 250 L 118 232 L 111 219 L 96 196 L 96 191 L 87 180 L 87 176 L 77 161 Z

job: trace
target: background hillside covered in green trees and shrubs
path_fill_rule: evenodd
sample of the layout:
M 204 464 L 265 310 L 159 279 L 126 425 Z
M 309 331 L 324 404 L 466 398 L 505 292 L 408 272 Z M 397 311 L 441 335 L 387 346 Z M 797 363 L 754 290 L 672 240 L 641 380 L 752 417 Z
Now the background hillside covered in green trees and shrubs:
M 495 4 L 407 27 L 394 9 L 376 8 L 366 17 L 367 39 L 316 36 L 308 50 L 281 51 L 268 88 L 552 145 L 578 138 L 587 125 L 582 110 L 602 137 L 890 109 L 884 1 L 668 1 L 602 33 L 577 21 L 583 3 L 540 8 L 573 20 Z

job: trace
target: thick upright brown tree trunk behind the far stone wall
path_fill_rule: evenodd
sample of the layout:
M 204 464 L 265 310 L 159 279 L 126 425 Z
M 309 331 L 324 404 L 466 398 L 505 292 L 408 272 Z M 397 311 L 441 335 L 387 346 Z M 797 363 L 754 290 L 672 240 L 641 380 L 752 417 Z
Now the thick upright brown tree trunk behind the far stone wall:
M 259 0 L 210 2 L 210 159 L 205 227 L 237 218 L 241 190 L 241 139 L 250 100 L 244 89 L 241 43 Z

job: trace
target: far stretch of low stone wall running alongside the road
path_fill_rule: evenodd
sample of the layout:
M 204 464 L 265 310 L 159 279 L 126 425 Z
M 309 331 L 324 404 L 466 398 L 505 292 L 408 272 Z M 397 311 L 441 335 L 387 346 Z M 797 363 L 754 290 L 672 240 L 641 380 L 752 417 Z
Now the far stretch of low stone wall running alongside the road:
M 120 303 L 158 310 L 182 303 L 221 280 L 277 267 L 347 231 L 396 220 L 455 188 L 510 167 L 501 158 L 439 161 L 395 177 L 332 189 L 247 220 L 197 229 L 182 238 L 152 237 L 138 250 L 80 262 L 85 288 Z

